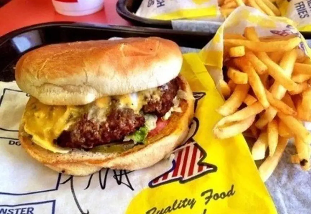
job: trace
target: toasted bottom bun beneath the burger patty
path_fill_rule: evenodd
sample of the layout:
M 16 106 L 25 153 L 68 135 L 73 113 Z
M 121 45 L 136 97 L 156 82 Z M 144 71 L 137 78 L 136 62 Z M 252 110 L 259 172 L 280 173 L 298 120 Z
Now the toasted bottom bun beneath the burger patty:
M 181 76 L 180 87 L 192 96 L 188 82 Z M 193 117 L 194 100 L 181 100 L 182 113 L 174 112 L 163 130 L 146 143 L 137 144 L 124 152 L 91 152 L 74 149 L 69 153 L 53 153 L 33 143 L 21 124 L 19 139 L 21 145 L 36 160 L 49 168 L 69 175 L 89 175 L 101 168 L 138 170 L 152 166 L 165 158 L 179 146 L 188 133 Z

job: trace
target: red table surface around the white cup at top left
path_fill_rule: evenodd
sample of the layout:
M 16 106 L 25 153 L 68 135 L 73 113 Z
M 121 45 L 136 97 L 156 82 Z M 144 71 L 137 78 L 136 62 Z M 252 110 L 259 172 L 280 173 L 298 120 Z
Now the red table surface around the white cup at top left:
M 104 8 L 87 16 L 58 14 L 51 0 L 12 0 L 0 8 L 0 36 L 13 30 L 53 21 L 75 21 L 113 25 L 131 25 L 116 12 L 117 0 L 105 0 Z

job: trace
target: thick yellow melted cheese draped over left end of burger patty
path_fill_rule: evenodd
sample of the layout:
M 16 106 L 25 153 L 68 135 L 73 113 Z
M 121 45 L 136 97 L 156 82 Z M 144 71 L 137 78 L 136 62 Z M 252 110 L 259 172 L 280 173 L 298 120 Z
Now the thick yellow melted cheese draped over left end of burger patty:
M 67 153 L 53 143 L 79 116 L 79 109 L 72 106 L 49 106 L 30 98 L 23 115 L 24 130 L 32 135 L 32 141 L 54 153 Z

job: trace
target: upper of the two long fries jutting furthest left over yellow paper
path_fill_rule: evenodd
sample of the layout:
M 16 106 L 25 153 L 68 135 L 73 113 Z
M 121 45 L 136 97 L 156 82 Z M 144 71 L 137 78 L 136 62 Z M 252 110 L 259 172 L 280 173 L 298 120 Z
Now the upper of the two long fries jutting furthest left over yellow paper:
M 217 127 L 225 125 L 226 123 L 235 122 L 235 121 L 243 121 L 250 116 L 256 116 L 260 112 L 262 112 L 263 107 L 260 102 L 255 102 L 252 105 L 249 105 L 229 116 L 223 117 L 216 124 Z M 251 124 L 250 124 L 251 125 Z

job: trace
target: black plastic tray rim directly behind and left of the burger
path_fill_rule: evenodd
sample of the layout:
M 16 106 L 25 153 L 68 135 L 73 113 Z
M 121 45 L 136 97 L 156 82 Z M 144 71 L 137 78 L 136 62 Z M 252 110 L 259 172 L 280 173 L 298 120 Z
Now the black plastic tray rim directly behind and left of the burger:
M 167 29 L 91 25 L 74 22 L 54 22 L 15 30 L 0 37 L 0 81 L 14 80 L 14 66 L 25 52 L 43 45 L 109 39 L 111 37 L 149 37 L 170 39 L 179 46 L 202 48 L 213 34 Z

